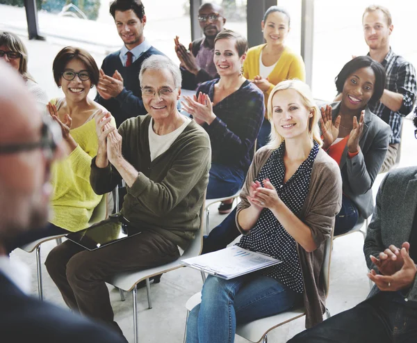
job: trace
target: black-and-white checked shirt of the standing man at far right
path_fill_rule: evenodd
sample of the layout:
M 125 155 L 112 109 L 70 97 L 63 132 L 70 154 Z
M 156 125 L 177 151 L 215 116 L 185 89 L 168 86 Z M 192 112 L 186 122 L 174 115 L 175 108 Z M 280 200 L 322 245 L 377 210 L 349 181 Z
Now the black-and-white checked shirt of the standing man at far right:
M 400 143 L 402 117 L 413 110 L 414 99 L 416 98 L 416 70 L 411 63 L 405 61 L 401 56 L 395 55 L 391 48 L 381 64 L 386 71 L 385 88 L 391 90 L 391 92 L 402 94 L 402 105 L 397 112 L 391 111 L 382 102 L 368 104 L 368 106 L 371 112 L 378 115 L 391 127 L 389 138 L 391 145 Z

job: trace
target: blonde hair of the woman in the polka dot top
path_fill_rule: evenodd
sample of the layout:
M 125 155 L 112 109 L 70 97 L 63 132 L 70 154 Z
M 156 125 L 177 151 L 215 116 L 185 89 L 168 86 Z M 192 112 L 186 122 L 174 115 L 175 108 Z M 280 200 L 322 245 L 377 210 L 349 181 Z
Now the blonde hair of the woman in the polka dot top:
M 313 99 L 310 87 L 303 81 L 293 79 L 278 83 L 277 86 L 272 89 L 268 98 L 267 118 L 271 123 L 271 134 L 268 147 L 271 149 L 277 149 L 277 147 L 279 147 L 279 145 L 281 145 L 281 143 L 285 140 L 284 137 L 278 133 L 274 124 L 274 120 L 272 119 L 272 98 L 274 97 L 275 93 L 279 92 L 279 90 L 286 89 L 296 90 L 302 98 L 302 104 L 306 107 L 307 110 L 309 110 L 310 113 L 313 113 L 313 116 L 309 118 L 309 135 L 313 141 L 316 141 L 318 145 L 321 146 L 322 140 L 320 138 L 320 130 L 318 128 L 318 120 L 320 119 L 321 115 L 320 110 L 318 109 L 318 106 Z

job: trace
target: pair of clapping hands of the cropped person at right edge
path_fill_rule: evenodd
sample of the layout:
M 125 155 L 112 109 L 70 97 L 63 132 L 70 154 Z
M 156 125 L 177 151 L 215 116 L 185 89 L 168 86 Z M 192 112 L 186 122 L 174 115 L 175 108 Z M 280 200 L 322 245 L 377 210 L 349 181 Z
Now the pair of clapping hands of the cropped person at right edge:
M 406 245 L 407 244 L 407 245 Z M 400 254 L 396 255 L 395 260 L 402 260 L 402 266 L 398 271 L 395 271 L 398 269 L 398 265 L 395 266 L 389 266 L 389 262 L 385 262 L 384 266 L 382 266 L 382 262 L 380 266 L 382 266 L 382 269 L 386 271 L 386 273 L 391 273 L 391 271 L 395 271 L 391 275 L 379 275 L 377 274 L 373 269 L 368 273 L 368 278 L 375 282 L 375 285 L 381 290 L 385 292 L 395 292 L 399 291 L 400 289 L 404 289 L 409 287 L 416 278 L 417 273 L 417 266 L 414 264 L 414 261 L 411 260 L 411 257 L 409 255 L 409 244 L 408 242 L 405 242 L 402 244 L 402 248 L 400 250 Z M 390 249 L 391 250 L 391 249 Z M 385 250 L 386 251 L 386 250 Z M 385 253 L 385 252 L 384 252 Z M 381 255 L 381 254 L 379 254 Z M 393 256 L 390 255 L 391 262 L 393 261 Z M 389 257 L 387 257 L 388 259 Z M 374 257 L 375 259 L 375 257 Z M 371 257 L 371 260 L 373 260 L 373 257 Z M 376 260 L 376 259 L 375 259 Z M 374 260 L 373 260 L 374 262 Z M 374 262 L 375 263 L 375 262 Z M 377 265 L 377 264 L 375 264 Z

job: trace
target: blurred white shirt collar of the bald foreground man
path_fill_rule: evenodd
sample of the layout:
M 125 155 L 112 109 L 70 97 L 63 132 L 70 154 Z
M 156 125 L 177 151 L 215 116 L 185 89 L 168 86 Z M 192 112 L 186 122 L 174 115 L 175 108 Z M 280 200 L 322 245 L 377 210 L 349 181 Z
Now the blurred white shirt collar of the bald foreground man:
M 25 294 L 31 293 L 31 270 L 19 260 L 0 256 L 0 272 Z

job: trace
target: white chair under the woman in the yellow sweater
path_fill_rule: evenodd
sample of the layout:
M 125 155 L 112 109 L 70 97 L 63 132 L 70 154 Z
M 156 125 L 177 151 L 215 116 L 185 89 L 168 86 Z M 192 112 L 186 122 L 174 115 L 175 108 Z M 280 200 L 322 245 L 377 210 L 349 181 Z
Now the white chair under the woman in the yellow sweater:
M 92 216 L 88 224 L 93 225 L 95 223 L 98 223 L 99 221 L 103 221 L 104 219 L 106 219 L 106 217 L 107 217 L 107 196 L 105 195 L 101 198 L 99 205 L 97 205 L 97 207 L 95 207 L 95 209 L 93 210 Z M 51 241 L 52 239 L 56 239 L 57 245 L 61 244 L 62 238 L 65 237 L 65 234 L 57 234 L 56 236 L 44 237 L 44 238 L 37 239 L 36 241 L 32 241 L 31 243 L 28 243 L 28 244 L 25 244 L 24 246 L 19 247 L 19 249 L 26 251 L 26 253 L 32 253 L 33 250 L 36 250 L 36 271 L 38 275 L 38 295 L 39 295 L 40 301 L 43 301 L 40 245 L 44 242 Z

